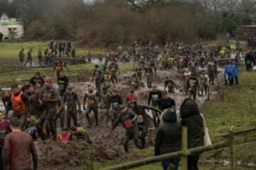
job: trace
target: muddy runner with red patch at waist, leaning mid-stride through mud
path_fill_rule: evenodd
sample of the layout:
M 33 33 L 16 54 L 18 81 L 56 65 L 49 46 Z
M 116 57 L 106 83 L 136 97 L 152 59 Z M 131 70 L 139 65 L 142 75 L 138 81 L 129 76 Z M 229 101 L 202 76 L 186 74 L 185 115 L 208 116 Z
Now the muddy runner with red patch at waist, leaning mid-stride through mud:
M 112 130 L 122 123 L 124 126 L 126 133 L 125 133 L 125 140 L 124 140 L 124 152 L 129 152 L 128 142 L 129 140 L 134 140 L 134 144 L 139 148 L 142 149 L 142 145 L 139 141 L 139 132 L 138 132 L 138 125 L 137 125 L 137 115 L 131 110 L 128 110 L 124 105 L 119 105 L 119 118 L 114 123 Z M 111 131 L 112 131 L 111 130 Z

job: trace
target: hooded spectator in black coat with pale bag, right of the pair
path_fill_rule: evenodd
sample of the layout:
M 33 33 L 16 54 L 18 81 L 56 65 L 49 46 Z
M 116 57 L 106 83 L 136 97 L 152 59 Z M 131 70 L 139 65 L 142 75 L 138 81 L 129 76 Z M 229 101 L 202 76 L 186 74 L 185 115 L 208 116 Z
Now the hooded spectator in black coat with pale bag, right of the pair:
M 203 117 L 199 113 L 196 101 L 186 98 L 181 104 L 181 124 L 188 127 L 188 149 L 204 145 Z M 188 170 L 198 170 L 198 154 L 188 156 Z

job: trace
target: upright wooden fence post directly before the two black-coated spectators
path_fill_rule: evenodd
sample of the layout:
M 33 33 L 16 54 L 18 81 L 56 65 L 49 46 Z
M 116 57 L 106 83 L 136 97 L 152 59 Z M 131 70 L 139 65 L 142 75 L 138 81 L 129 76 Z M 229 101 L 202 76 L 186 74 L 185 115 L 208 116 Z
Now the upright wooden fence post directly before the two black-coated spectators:
M 188 127 L 182 127 L 182 152 L 185 153 L 188 151 Z M 182 157 L 182 170 L 188 169 L 188 157 L 183 155 Z

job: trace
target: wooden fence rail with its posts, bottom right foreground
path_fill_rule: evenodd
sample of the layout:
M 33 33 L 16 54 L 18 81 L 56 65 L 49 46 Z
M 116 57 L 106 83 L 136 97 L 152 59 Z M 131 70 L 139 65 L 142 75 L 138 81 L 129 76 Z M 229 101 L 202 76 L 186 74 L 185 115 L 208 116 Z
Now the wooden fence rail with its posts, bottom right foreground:
M 247 133 L 250 132 L 250 135 Z M 230 169 L 235 170 L 235 145 L 244 144 L 247 142 L 256 141 L 256 132 L 255 130 L 245 130 L 244 132 L 233 132 L 233 127 L 230 129 L 228 140 L 225 140 L 223 142 L 218 142 L 213 145 L 208 146 L 202 146 L 202 147 L 196 147 L 192 149 L 187 149 L 188 143 L 187 143 L 187 136 L 188 136 L 188 130 L 186 127 L 182 128 L 182 151 L 178 152 L 172 152 L 169 154 L 162 154 L 156 157 L 149 157 L 146 159 L 140 159 L 134 162 L 128 162 L 125 164 L 119 164 L 115 166 L 110 166 L 108 168 L 102 169 L 102 170 L 124 170 L 124 169 L 132 169 L 139 166 L 144 166 L 147 164 L 154 164 L 156 162 L 161 162 L 164 159 L 174 159 L 177 157 L 182 158 L 182 166 L 181 168 L 183 170 L 187 170 L 187 157 L 190 154 L 201 154 L 203 152 L 208 152 L 215 149 L 230 147 L 230 160 L 231 160 L 231 167 Z M 234 137 L 235 134 L 243 135 L 242 137 Z M 227 137 L 227 135 L 225 135 Z

